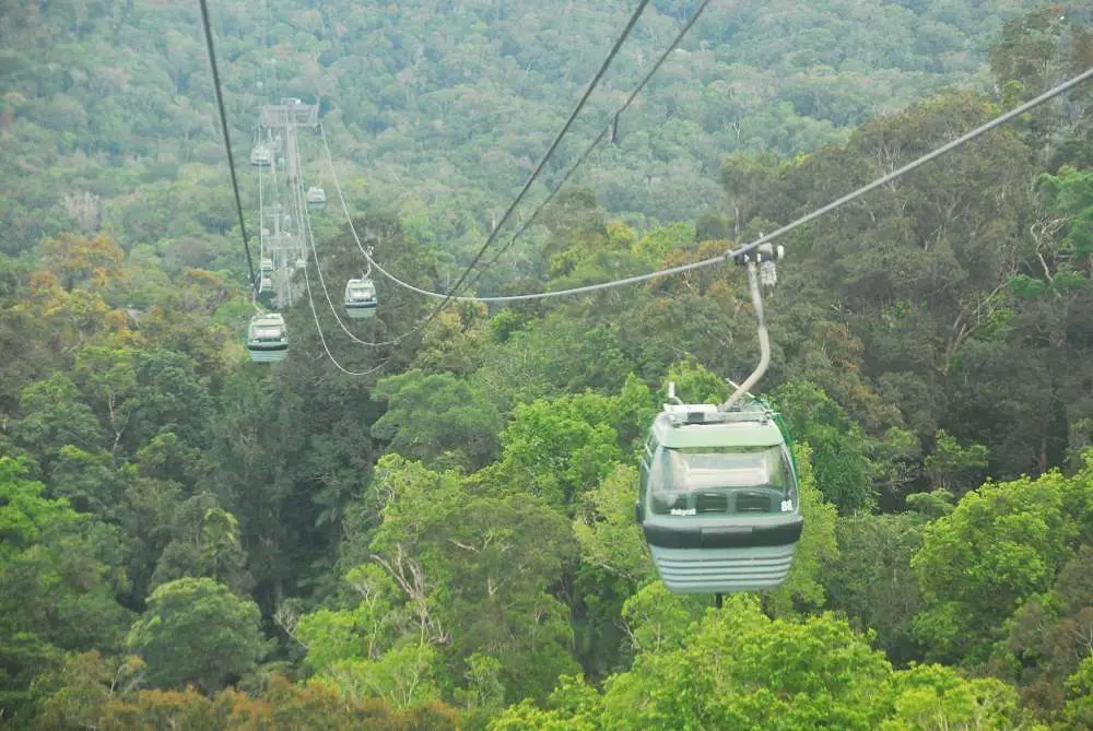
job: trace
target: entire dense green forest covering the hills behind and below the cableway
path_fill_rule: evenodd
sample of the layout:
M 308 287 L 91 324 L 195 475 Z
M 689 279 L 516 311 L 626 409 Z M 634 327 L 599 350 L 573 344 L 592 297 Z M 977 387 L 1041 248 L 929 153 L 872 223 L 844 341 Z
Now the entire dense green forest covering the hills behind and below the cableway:
M 563 4 L 212 2 L 247 214 L 257 109 L 317 101 L 356 229 L 445 290 L 633 9 Z M 1076 4 L 715 2 L 477 286 L 773 231 L 1093 66 Z M 650 3 L 529 203 L 696 5 Z M 669 380 L 752 369 L 741 270 L 372 349 L 316 296 L 378 369 L 306 303 L 256 365 L 197 3 L 5 0 L 0 39 L 0 726 L 1093 728 L 1093 83 L 781 239 L 804 534 L 716 610 L 657 579 L 636 456 Z M 377 284 L 364 340 L 433 306 Z

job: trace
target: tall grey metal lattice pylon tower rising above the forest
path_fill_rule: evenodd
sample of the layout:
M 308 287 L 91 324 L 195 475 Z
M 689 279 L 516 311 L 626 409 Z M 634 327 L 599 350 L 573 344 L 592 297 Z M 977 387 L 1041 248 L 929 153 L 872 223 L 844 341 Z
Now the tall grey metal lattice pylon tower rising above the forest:
M 319 106 L 304 104 L 298 98 L 282 98 L 280 104 L 267 104 L 261 109 L 259 126 L 271 145 L 270 167 L 274 178 L 270 191 L 272 202 L 259 204 L 262 279 L 268 279 L 273 292 L 273 307 L 278 310 L 290 307 L 303 295 L 303 287 L 293 282 L 293 274 L 307 264 L 305 212 L 295 196 L 302 178 L 296 130 L 302 127 L 314 129 L 318 123 Z M 279 166 L 282 168 L 280 180 L 277 175 Z

